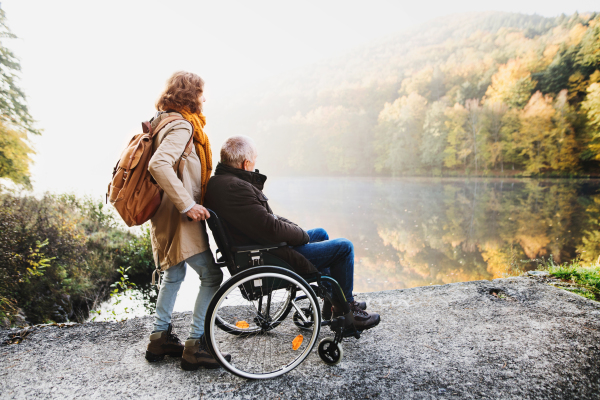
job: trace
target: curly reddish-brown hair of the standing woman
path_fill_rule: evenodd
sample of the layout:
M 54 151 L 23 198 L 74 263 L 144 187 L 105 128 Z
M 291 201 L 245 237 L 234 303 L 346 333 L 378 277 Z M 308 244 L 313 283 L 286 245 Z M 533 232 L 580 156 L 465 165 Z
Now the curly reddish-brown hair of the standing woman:
M 175 72 L 168 80 L 165 90 L 156 102 L 159 111 L 188 109 L 191 113 L 202 112 L 200 96 L 204 92 L 204 80 L 192 72 Z

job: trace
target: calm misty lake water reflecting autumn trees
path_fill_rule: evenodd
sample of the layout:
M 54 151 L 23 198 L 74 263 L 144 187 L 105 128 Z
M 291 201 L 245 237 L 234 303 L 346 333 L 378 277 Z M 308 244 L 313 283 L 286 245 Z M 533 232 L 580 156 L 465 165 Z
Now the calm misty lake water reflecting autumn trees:
M 276 214 L 350 239 L 354 290 L 371 292 L 499 278 L 550 256 L 591 261 L 599 189 L 590 180 L 275 178 L 264 192 Z M 188 272 L 176 311 L 194 304 L 199 281 Z M 148 313 L 149 293 L 120 306 Z

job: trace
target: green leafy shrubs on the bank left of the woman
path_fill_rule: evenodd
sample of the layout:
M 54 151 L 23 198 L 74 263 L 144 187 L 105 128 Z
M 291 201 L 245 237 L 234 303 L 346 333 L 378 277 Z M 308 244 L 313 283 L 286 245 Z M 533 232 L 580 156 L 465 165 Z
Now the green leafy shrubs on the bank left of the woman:
M 108 296 L 119 267 L 154 266 L 149 232 L 136 235 L 90 198 L 41 198 L 0 188 L 0 320 L 83 320 Z M 20 309 L 20 310 L 19 310 Z

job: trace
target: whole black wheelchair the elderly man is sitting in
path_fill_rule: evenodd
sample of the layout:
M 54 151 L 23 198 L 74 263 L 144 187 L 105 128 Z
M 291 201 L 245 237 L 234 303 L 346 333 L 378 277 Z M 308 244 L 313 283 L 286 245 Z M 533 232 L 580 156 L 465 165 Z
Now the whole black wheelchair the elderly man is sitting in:
M 321 274 L 302 277 L 268 252 L 286 243 L 232 246 L 217 214 L 208 212 L 206 222 L 218 247 L 216 264 L 231 274 L 213 296 L 204 323 L 208 350 L 221 366 L 247 379 L 283 375 L 308 357 L 321 326 L 329 326 L 334 335 L 320 341 L 319 357 L 329 365 L 341 362 L 342 339 L 358 339 L 361 331 L 353 324 L 337 281 Z M 329 300 L 343 315 L 323 321 L 319 297 Z M 230 361 L 226 354 L 231 354 Z

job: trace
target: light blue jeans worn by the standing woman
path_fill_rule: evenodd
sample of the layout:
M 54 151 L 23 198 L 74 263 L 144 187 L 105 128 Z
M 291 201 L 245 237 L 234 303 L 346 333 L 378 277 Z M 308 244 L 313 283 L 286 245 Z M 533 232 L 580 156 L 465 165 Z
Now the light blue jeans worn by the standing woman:
M 165 271 L 158 292 L 158 299 L 156 300 L 156 318 L 153 332 L 166 331 L 171 323 L 171 314 L 175 306 L 177 292 L 185 278 L 185 264 L 192 267 L 200 277 L 200 291 L 194 305 L 189 336 L 189 339 L 199 339 L 204 334 L 204 317 L 206 316 L 208 304 L 223 281 L 223 272 L 221 268 L 215 265 L 210 250 L 191 256 Z

